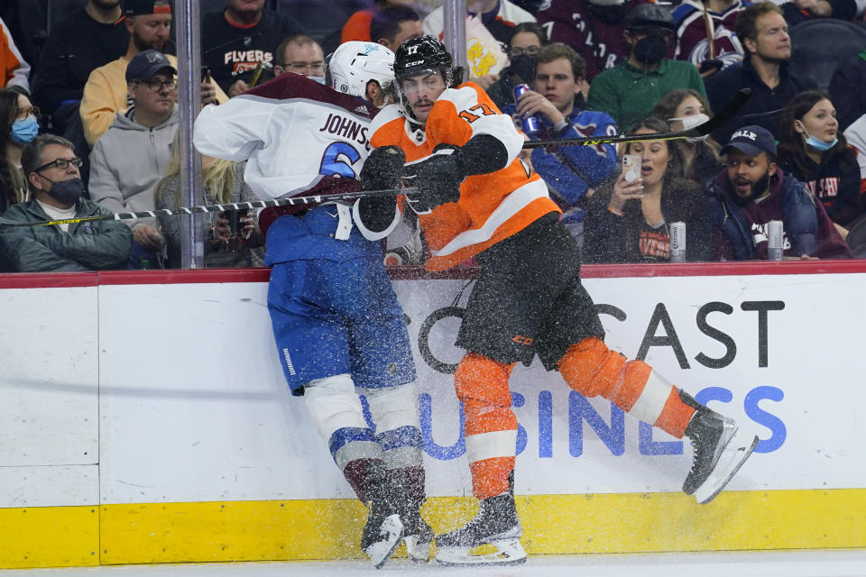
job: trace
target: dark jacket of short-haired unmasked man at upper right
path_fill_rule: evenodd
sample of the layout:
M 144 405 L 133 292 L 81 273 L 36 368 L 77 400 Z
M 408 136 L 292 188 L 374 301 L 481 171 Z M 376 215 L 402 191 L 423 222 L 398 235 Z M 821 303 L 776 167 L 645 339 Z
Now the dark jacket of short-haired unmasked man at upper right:
M 770 88 L 760 79 L 751 65 L 751 60 L 747 58 L 742 63 L 734 64 L 707 78 L 705 82 L 706 94 L 710 99 L 710 108 L 714 112 L 722 110 L 728 100 L 741 88 L 751 88 L 751 98 L 746 101 L 740 114 L 734 116 L 713 133 L 715 142 L 724 146 L 735 130 L 747 124 L 763 126 L 778 138 L 777 119 L 781 114 L 781 109 L 788 105 L 788 101 L 793 96 L 815 87 L 811 81 L 794 78 L 788 74 L 787 62 L 782 62 L 778 73 L 778 86 Z M 767 114 L 773 111 L 779 112 Z M 758 115 L 743 118 L 746 114 Z

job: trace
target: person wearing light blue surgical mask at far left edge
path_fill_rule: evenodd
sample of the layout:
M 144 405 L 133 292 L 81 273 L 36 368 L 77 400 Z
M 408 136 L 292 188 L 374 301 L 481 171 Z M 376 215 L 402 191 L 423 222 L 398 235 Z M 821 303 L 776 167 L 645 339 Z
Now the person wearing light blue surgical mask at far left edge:
M 39 133 L 39 111 L 23 89 L 0 90 L 0 213 L 28 199 L 27 179 L 21 169 L 21 151 Z

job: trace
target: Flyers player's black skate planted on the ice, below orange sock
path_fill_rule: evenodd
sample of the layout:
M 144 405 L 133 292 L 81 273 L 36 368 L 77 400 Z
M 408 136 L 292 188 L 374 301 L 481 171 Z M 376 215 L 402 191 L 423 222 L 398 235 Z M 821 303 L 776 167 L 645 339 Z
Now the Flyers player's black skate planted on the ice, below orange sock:
M 446 565 L 516 564 L 526 561 L 521 545 L 523 527 L 514 497 L 504 493 L 482 499 L 478 515 L 465 527 L 436 537 L 436 561 Z M 481 545 L 493 545 L 494 553 L 469 554 Z

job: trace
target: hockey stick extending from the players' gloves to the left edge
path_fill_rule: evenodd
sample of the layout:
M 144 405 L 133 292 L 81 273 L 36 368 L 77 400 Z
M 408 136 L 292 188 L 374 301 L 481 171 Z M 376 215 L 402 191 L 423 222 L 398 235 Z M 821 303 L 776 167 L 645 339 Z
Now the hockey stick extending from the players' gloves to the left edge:
M 0 216 L 0 226 L 45 226 L 51 224 L 75 224 L 87 223 L 97 220 L 134 220 L 136 218 L 152 218 L 154 216 L 171 215 L 204 215 L 206 213 L 217 213 L 226 210 L 238 210 L 242 208 L 266 208 L 268 206 L 316 206 L 326 202 L 349 202 L 362 197 L 396 197 L 418 192 L 417 188 L 384 188 L 382 190 L 359 190 L 357 192 L 341 192 L 332 195 L 311 195 L 309 197 L 287 197 L 273 200 L 253 200 L 250 202 L 225 203 L 222 205 L 206 206 L 181 206 L 180 208 L 161 208 L 159 210 L 145 210 L 134 213 L 111 213 L 107 215 L 81 216 L 78 218 L 64 218 L 60 220 L 43 220 L 33 223 L 20 223 L 8 221 Z

